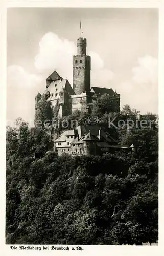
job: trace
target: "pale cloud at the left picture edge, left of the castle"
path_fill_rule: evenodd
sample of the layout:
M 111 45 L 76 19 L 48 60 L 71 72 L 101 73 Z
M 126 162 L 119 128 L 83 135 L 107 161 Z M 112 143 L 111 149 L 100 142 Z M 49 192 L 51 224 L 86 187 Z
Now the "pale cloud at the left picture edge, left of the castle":
M 24 68 L 11 65 L 7 68 L 7 120 L 13 125 L 17 117 L 29 121 L 34 118 L 35 94 L 42 78 L 27 73 Z M 40 88 L 41 89 L 41 88 Z

